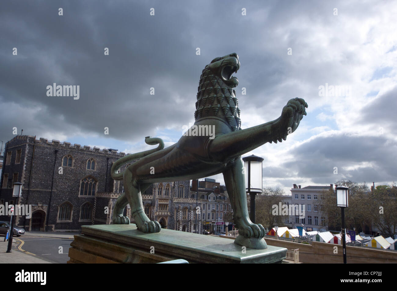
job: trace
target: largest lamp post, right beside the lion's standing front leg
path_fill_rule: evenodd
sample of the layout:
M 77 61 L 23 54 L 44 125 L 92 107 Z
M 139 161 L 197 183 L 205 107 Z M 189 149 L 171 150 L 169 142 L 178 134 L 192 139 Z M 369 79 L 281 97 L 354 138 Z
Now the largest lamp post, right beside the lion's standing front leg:
M 255 198 L 262 193 L 262 162 L 263 158 L 258 156 L 247 156 L 243 158 L 245 171 L 245 191 L 250 195 L 250 219 L 255 223 Z

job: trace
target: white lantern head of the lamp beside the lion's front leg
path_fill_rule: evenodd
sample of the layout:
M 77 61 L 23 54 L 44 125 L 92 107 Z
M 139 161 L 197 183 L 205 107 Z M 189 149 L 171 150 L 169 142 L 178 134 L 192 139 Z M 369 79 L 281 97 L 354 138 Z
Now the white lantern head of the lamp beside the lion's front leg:
M 245 168 L 245 190 L 246 192 L 262 193 L 262 161 L 258 156 L 243 158 Z

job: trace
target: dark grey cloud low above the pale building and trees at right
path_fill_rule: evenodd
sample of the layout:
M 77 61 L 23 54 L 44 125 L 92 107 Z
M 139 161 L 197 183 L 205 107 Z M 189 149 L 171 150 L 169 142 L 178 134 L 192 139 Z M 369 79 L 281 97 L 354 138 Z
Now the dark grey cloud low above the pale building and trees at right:
M 274 175 L 264 177 L 291 177 L 297 173 L 298 179 L 311 179 L 315 184 L 334 183 L 340 179 L 350 179 L 362 183 L 366 181 L 395 181 L 397 168 L 397 143 L 387 142 L 385 137 L 351 136 L 335 134 L 330 137 L 317 137 L 293 149 L 294 160 L 283 163 Z M 355 169 L 348 167 L 360 166 Z M 337 174 L 334 174 L 337 167 Z M 264 168 L 264 173 L 266 172 Z M 280 180 L 283 183 L 283 179 Z M 290 183 L 283 183 L 289 187 Z

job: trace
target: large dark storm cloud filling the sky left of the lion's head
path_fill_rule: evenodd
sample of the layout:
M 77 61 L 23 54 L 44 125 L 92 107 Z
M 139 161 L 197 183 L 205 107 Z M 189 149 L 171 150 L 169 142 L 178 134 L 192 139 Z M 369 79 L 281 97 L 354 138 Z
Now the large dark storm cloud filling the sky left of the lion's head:
M 315 2 L 171 3 L 2 2 L 0 102 L 12 101 L 25 109 L 15 112 L 22 117 L 2 119 L 0 137 L 12 138 L 13 126 L 27 134 L 46 129 L 69 136 L 76 128 L 103 134 L 106 126 L 111 137 L 131 141 L 158 126 L 181 126 L 193 118 L 201 70 L 212 58 L 231 52 L 240 54 L 237 77 L 249 90 L 250 98 L 242 100 L 247 109 L 252 104 L 275 106 L 281 99 L 284 104 L 288 93 L 265 102 L 263 96 L 291 76 L 286 45 L 300 38 L 293 31 L 281 43 L 275 31 L 285 17 L 309 21 L 299 10 L 328 9 Z M 243 6 L 247 17 L 241 15 Z M 63 16 L 58 15 L 60 7 Z M 282 52 L 270 52 L 274 46 Z M 104 56 L 105 47 L 109 56 Z M 80 99 L 46 96 L 46 86 L 53 83 L 79 85 Z M 149 94 L 150 87 L 155 95 Z

